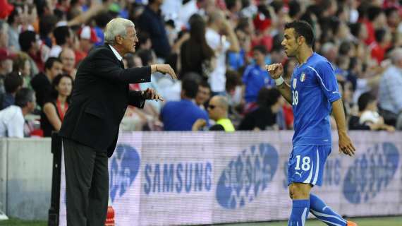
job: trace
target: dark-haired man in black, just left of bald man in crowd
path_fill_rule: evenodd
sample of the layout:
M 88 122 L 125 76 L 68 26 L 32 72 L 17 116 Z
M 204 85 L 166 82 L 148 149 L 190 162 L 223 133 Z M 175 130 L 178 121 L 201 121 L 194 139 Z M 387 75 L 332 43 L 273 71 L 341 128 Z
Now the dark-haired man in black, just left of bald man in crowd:
M 51 95 L 51 83 L 61 73 L 63 73 L 63 64 L 60 59 L 49 57 L 44 64 L 44 72 L 38 73 L 32 78 L 31 86 L 35 90 L 39 107 L 42 108 L 44 101 Z

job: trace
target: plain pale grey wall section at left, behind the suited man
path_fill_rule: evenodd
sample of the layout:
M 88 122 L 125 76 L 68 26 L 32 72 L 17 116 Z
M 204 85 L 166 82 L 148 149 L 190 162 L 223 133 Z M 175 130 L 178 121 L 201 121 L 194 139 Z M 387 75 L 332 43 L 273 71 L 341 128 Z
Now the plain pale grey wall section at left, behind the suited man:
M 50 138 L 0 139 L 0 203 L 12 218 L 45 220 L 51 197 Z

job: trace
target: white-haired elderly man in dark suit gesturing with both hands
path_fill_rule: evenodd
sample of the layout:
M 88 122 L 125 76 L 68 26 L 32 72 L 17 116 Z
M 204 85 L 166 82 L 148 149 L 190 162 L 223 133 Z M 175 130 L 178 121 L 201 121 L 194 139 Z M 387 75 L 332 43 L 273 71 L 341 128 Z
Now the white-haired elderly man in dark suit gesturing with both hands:
M 129 83 L 146 83 L 159 71 L 176 78 L 168 64 L 123 69 L 122 57 L 138 42 L 130 20 L 111 20 L 105 44 L 83 59 L 75 78 L 71 105 L 64 117 L 67 225 L 104 225 L 109 198 L 107 157 L 116 147 L 118 126 L 127 105 L 143 107 L 145 100 L 162 100 L 152 89 L 130 91 Z

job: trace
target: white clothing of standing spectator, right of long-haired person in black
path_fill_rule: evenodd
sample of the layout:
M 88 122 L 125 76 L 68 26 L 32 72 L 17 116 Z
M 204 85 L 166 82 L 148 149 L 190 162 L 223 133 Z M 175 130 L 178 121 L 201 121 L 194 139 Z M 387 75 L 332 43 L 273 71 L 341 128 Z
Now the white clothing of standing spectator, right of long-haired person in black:
M 209 85 L 212 92 L 224 92 L 226 85 L 226 51 L 231 43 L 225 40 L 218 32 L 207 28 L 205 39 L 209 47 L 215 50 L 217 57 L 217 66 L 209 76 Z

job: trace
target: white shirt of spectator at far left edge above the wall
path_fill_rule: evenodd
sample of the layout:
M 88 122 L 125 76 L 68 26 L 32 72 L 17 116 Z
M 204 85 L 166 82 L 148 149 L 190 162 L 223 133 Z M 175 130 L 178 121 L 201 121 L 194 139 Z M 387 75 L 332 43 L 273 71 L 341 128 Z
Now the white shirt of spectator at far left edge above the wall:
M 24 126 L 21 107 L 11 105 L 0 111 L 0 137 L 24 138 Z

